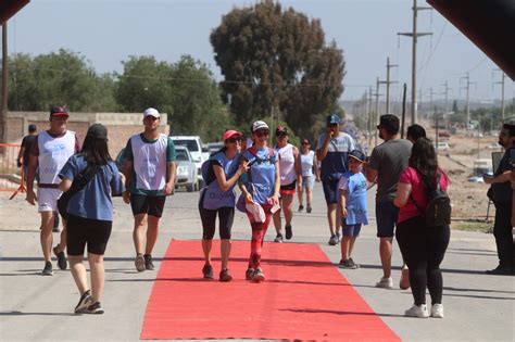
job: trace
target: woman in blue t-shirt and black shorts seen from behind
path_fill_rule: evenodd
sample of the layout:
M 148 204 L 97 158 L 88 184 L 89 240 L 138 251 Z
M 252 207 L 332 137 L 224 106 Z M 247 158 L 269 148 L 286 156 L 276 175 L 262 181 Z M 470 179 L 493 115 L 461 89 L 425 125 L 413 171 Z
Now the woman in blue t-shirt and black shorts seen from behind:
M 81 153 L 68 159 L 59 174 L 60 189 L 64 192 L 85 175 L 90 175 L 84 188 L 76 192 L 67 205 L 67 240 L 70 269 L 80 292 L 76 314 L 103 314 L 100 300 L 104 287 L 103 254 L 113 223 L 111 195 L 124 191 L 122 175 L 108 150 L 108 129 L 93 124 L 89 127 Z M 84 250 L 88 245 L 91 290 L 83 265 Z

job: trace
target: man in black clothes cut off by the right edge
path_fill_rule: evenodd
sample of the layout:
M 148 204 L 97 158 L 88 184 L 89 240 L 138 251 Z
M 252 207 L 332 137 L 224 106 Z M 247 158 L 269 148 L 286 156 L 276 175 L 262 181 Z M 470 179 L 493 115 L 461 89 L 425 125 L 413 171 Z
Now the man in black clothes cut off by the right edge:
M 485 176 L 485 182 L 490 183 L 492 201 L 495 205 L 495 221 L 493 224 L 493 236 L 498 248 L 499 265 L 487 270 L 489 275 L 511 275 L 515 270 L 515 245 L 512 235 L 512 164 L 510 152 L 514 151 L 515 126 L 504 124 L 499 134 L 499 144 L 505 152 L 493 177 Z M 513 162 L 513 161 L 512 161 Z

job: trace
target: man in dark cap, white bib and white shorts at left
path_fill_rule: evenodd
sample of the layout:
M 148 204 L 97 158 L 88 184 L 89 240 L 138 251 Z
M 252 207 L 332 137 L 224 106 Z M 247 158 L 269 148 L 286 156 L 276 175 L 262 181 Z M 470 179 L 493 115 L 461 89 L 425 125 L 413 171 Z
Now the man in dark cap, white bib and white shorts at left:
M 56 216 L 58 199 L 62 191 L 59 189 L 59 172 L 68 157 L 80 151 L 80 144 L 74 131 L 66 130 L 68 112 L 65 107 L 54 105 L 50 109 L 50 129 L 40 132 L 30 144 L 28 172 L 27 172 L 27 202 L 32 205 L 38 203 L 41 214 L 40 243 L 45 257 L 42 275 L 52 276 L 52 228 Z M 36 168 L 39 169 L 38 194 L 34 192 Z M 63 219 L 64 226 L 64 219 Z M 61 241 L 53 249 L 58 256 L 58 266 L 66 269 L 66 229 L 61 231 Z

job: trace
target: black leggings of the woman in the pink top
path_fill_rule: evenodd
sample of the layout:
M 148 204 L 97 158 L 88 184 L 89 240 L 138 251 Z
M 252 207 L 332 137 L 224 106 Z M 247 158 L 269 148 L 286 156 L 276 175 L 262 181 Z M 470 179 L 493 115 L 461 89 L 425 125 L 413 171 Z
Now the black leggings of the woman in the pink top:
M 450 237 L 449 226 L 426 228 L 420 216 L 398 224 L 395 238 L 410 268 L 415 305 L 426 304 L 426 288 L 429 290 L 431 304 L 441 304 L 443 280 L 440 263 Z

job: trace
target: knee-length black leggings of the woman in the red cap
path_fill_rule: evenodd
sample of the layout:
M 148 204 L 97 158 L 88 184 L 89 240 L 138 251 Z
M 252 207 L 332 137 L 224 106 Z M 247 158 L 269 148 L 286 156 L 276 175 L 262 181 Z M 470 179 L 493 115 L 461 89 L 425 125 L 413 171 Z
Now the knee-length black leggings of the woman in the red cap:
M 216 228 L 216 213 L 219 220 L 219 238 L 222 240 L 230 239 L 230 229 L 235 219 L 235 207 L 223 206 L 217 210 L 206 210 L 199 207 L 200 219 L 202 220 L 202 239 L 213 240 Z

